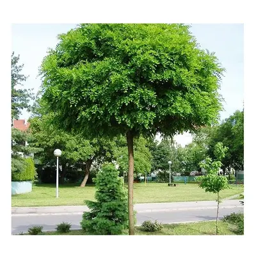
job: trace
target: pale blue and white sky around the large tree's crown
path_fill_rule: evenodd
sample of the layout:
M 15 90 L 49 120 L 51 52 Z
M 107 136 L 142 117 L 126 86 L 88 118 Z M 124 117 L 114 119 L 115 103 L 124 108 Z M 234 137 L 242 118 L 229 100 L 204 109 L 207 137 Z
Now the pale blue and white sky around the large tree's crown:
M 228 118 L 237 109 L 243 109 L 244 100 L 244 26 L 243 24 L 190 24 L 191 33 L 202 49 L 215 52 L 226 69 L 220 93 L 224 98 L 221 120 Z M 24 63 L 23 74 L 29 75 L 23 88 L 33 88 L 36 94 L 40 87 L 38 67 L 49 48 L 58 44 L 57 35 L 76 28 L 76 24 L 12 24 L 12 51 L 20 54 Z M 28 119 L 29 113 L 22 111 L 20 119 Z M 182 147 L 191 142 L 189 133 L 175 136 Z

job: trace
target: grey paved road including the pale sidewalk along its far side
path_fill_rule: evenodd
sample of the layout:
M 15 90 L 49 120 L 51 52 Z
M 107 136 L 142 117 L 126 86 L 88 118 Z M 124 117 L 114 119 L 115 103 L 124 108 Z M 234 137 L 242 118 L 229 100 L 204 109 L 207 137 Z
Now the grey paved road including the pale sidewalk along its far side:
M 34 225 L 43 226 L 44 230 L 54 230 L 56 224 L 62 221 L 72 223 L 72 228 L 80 228 L 80 221 L 83 214 L 81 209 L 84 210 L 84 206 L 13 208 L 12 234 L 27 232 L 28 228 Z M 134 209 L 137 211 L 137 225 L 140 225 L 145 220 L 157 220 L 162 223 L 178 223 L 214 220 L 216 218 L 216 202 L 214 201 L 138 204 L 135 205 Z M 231 212 L 240 211 L 243 212 L 243 206 L 239 204 L 239 200 L 224 201 L 220 208 L 220 218 Z

